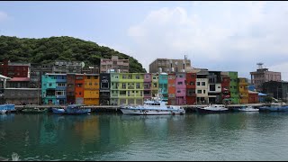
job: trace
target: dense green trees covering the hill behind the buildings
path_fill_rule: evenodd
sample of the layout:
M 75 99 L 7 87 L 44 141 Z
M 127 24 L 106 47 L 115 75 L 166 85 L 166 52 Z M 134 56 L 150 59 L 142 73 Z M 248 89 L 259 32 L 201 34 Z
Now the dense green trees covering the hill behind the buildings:
M 100 58 L 118 56 L 130 60 L 130 73 L 145 73 L 145 68 L 130 56 L 95 42 L 73 37 L 28 39 L 0 36 L 0 60 L 12 62 L 49 63 L 54 60 L 84 61 L 85 66 L 100 65 Z

